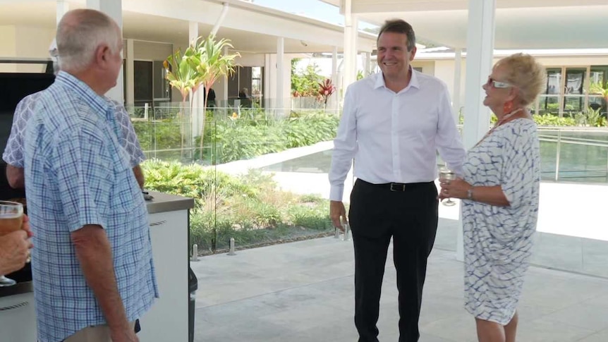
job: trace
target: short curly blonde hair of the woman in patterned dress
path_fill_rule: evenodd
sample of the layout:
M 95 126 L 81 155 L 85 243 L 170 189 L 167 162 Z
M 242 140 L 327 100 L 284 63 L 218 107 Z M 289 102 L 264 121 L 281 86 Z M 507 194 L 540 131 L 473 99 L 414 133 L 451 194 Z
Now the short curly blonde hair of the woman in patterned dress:
M 547 85 L 545 67 L 529 54 L 512 54 L 498 61 L 497 66 L 504 67 L 505 81 L 518 88 L 518 99 L 524 106 L 534 102 Z

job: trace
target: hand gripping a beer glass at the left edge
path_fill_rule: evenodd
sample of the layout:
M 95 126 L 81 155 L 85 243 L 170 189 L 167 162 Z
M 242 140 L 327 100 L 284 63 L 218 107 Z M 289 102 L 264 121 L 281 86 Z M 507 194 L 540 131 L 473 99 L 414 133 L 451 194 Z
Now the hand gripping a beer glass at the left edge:
M 23 269 L 30 256 L 32 243 L 26 231 L 13 231 L 0 236 L 0 274 L 9 274 Z

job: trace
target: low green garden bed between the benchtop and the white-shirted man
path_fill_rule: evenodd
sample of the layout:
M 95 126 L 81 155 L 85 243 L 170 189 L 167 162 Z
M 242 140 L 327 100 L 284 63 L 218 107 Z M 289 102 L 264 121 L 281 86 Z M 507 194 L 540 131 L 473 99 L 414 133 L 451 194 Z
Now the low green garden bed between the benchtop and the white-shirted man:
M 329 201 L 277 190 L 272 175 L 250 171 L 230 176 L 197 164 L 148 160 L 142 163 L 146 188 L 195 199 L 190 242 L 201 250 L 284 238 L 293 227 L 320 231 L 331 226 Z

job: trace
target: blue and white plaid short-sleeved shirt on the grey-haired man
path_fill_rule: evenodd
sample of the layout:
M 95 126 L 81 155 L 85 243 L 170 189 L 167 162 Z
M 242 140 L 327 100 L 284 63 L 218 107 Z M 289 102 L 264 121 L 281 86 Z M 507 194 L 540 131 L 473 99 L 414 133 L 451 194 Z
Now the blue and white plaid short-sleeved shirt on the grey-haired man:
M 32 276 L 38 339 L 63 341 L 105 324 L 75 255 L 71 232 L 102 226 L 127 319 L 152 306 L 158 287 L 146 205 L 114 106 L 68 73 L 40 93 L 25 129 L 25 191 L 34 233 Z

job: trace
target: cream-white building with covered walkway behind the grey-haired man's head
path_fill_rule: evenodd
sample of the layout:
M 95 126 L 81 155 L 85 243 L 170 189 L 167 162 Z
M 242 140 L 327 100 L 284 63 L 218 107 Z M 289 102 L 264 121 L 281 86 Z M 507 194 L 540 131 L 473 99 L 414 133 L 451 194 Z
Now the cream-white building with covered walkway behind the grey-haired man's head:
M 47 59 L 56 23 L 73 8 L 97 8 L 123 28 L 125 76 L 111 97 L 126 104 L 178 102 L 163 81 L 162 61 L 192 39 L 215 30 L 231 39 L 239 68 L 231 80 L 214 85 L 218 101 L 238 96 L 243 87 L 259 90 L 269 107 L 288 104 L 291 59 L 314 52 L 343 51 L 343 28 L 241 0 L 5 0 L 0 2 L 0 58 Z M 374 49 L 375 35 L 359 32 L 360 51 Z M 337 73 L 337 62 L 334 63 Z M 39 71 L 40 66 L 2 64 L 0 72 Z M 121 90 L 123 89 L 123 90 Z

